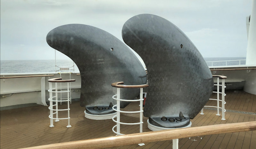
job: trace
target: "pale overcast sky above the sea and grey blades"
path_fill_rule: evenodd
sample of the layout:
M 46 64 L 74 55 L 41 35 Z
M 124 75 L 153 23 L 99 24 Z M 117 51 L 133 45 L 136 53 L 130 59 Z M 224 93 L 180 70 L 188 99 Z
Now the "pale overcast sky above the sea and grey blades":
M 86 24 L 121 41 L 131 17 L 150 13 L 179 27 L 203 57 L 246 57 L 245 19 L 251 0 L 0 0 L 0 58 L 54 59 L 46 43 L 53 28 Z M 57 59 L 68 59 L 56 52 Z

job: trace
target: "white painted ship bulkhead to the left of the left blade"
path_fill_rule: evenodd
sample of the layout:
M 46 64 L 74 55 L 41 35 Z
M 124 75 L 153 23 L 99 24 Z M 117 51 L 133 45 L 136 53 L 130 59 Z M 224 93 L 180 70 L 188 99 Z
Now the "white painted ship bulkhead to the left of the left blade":
M 49 73 L 1 74 L 1 77 L 45 74 Z M 45 101 L 47 102 L 49 98 L 49 82 L 47 80 L 49 78 L 60 78 L 60 74 L 52 74 L 54 76 L 0 79 L 0 106 L 5 107 L 31 103 L 46 106 Z M 61 74 L 61 76 L 63 80 L 69 80 L 69 73 Z M 71 83 L 71 98 L 80 98 L 80 92 L 76 92 L 76 90 L 81 90 L 81 77 L 80 75 L 76 75 L 76 73 L 72 73 L 71 79 L 76 80 L 76 82 Z M 66 86 L 66 83 L 63 83 L 61 88 L 65 89 L 67 88 Z M 60 85 L 58 89 L 60 89 Z

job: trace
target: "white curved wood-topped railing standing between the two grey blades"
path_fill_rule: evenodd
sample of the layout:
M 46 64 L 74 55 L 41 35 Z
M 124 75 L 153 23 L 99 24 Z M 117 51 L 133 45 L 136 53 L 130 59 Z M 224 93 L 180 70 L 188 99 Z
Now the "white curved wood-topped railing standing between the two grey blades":
M 147 84 L 143 85 L 122 85 L 124 82 L 115 82 L 112 83 L 111 86 L 116 87 L 117 89 L 117 94 L 112 96 L 113 99 L 116 100 L 116 105 L 112 107 L 114 111 L 116 111 L 116 115 L 113 116 L 112 120 L 116 122 L 116 125 L 112 128 L 112 131 L 116 133 L 116 135 L 124 135 L 120 133 L 120 124 L 124 125 L 138 125 L 140 124 L 140 133 L 142 132 L 142 113 L 143 113 L 143 88 L 148 87 Z M 120 99 L 120 88 L 140 88 L 140 99 Z M 140 101 L 140 111 L 121 111 L 120 110 L 120 101 L 128 101 L 128 102 L 133 102 L 133 101 Z M 115 109 L 116 107 L 116 109 Z M 125 122 L 120 122 L 120 113 L 140 113 L 140 122 L 137 123 L 125 123 Z M 116 118 L 116 120 L 114 119 Z M 116 128 L 116 131 L 114 130 Z M 144 143 L 140 143 L 140 146 L 145 145 Z

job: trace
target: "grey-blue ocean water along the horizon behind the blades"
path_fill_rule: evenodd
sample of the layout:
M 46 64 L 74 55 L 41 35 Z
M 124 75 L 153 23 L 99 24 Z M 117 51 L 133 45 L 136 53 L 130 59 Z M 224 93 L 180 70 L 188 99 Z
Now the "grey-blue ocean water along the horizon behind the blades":
M 245 57 L 236 58 L 204 58 L 208 66 L 226 66 L 226 62 L 208 62 L 208 61 L 225 61 L 225 60 L 239 60 Z M 227 61 L 227 65 L 239 65 L 239 61 Z M 245 60 L 241 61 L 241 65 L 245 65 Z M 55 70 L 61 68 L 69 68 L 70 72 L 79 73 L 76 64 L 73 66 L 73 61 L 70 60 L 1 60 L 0 73 L 55 73 Z M 145 67 L 145 65 L 144 65 Z M 71 70 L 74 69 L 74 70 Z

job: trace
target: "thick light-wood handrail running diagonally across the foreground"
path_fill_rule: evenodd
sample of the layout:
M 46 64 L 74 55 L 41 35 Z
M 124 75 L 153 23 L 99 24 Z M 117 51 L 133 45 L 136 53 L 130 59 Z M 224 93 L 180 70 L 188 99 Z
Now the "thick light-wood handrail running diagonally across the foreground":
M 72 141 L 29 148 L 107 148 L 114 146 L 132 145 L 146 142 L 156 142 L 184 137 L 204 136 L 220 133 L 256 130 L 256 121 L 231 124 L 209 125 L 172 130 L 151 131 L 123 136 L 102 137 L 81 141 Z

